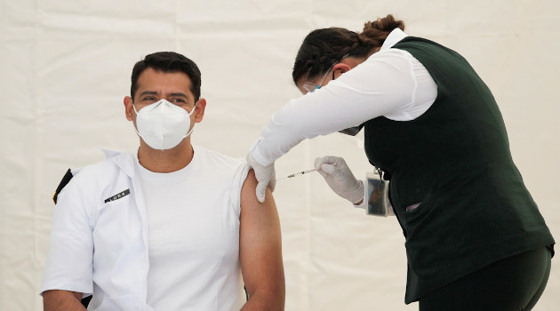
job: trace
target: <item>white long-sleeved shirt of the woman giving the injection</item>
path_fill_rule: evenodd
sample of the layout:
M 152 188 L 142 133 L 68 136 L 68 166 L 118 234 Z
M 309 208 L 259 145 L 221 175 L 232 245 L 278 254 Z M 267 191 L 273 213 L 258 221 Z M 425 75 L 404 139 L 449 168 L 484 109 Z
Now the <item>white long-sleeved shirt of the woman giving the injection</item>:
M 431 107 L 437 85 L 409 52 L 392 48 L 404 39 L 393 30 L 379 52 L 315 92 L 290 100 L 262 129 L 251 155 L 273 163 L 301 140 L 353 127 L 378 116 L 410 121 Z

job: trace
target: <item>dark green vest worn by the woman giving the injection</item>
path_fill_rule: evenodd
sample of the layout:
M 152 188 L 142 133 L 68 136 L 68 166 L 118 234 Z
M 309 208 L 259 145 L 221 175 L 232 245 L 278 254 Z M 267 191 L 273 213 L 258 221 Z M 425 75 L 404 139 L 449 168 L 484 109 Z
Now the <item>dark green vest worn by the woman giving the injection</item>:
M 364 124 L 366 154 L 390 176 L 406 240 L 410 303 L 554 240 L 512 161 L 492 92 L 467 60 L 417 37 L 394 48 L 420 60 L 437 84 L 436 101 L 422 116 Z

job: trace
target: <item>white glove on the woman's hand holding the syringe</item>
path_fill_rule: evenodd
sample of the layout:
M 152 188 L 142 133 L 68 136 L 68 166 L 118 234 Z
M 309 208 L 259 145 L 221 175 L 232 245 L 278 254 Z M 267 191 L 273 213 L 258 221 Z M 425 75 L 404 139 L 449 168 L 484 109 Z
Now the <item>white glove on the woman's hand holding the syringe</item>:
M 354 204 L 364 200 L 364 183 L 354 177 L 343 158 L 317 157 L 315 168 L 337 195 Z

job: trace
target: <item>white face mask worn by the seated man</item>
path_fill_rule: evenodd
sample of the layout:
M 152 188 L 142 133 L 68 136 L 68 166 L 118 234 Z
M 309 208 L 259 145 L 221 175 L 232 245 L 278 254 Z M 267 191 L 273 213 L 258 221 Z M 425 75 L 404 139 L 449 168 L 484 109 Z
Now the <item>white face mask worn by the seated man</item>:
M 132 104 L 138 127 L 135 131 L 151 148 L 174 148 L 195 129 L 193 126 L 192 130 L 188 131 L 190 115 L 195 111 L 196 103 L 190 113 L 164 99 L 140 108 L 140 111 Z

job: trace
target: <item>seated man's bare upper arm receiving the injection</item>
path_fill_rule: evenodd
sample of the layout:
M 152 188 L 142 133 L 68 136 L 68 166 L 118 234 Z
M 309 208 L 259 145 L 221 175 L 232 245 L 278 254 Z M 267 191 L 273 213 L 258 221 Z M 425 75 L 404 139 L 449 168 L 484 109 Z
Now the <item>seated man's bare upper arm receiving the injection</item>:
M 283 310 L 285 297 L 282 237 L 276 203 L 267 189 L 257 201 L 257 180 L 249 171 L 241 190 L 239 256 L 249 300 L 267 310 Z M 254 299 L 254 301 L 252 301 Z

